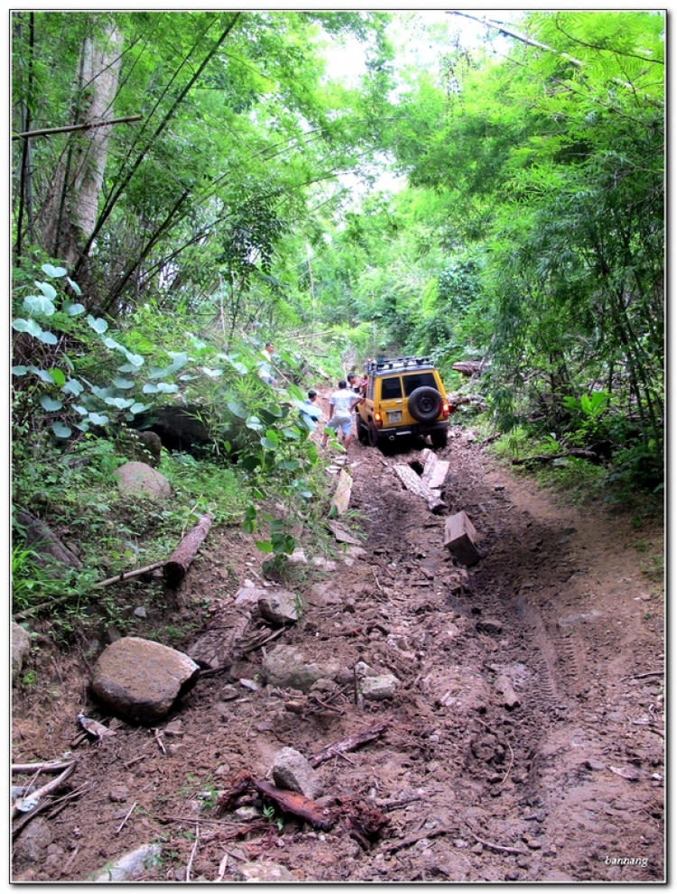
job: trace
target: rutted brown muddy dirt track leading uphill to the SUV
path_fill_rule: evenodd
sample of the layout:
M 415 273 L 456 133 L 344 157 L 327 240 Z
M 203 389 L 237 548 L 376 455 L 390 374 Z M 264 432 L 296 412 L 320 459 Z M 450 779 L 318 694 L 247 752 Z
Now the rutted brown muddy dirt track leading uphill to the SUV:
M 245 866 L 265 879 L 270 864 L 302 882 L 663 880 L 663 594 L 643 573 L 661 530 L 555 505 L 458 428 L 438 456 L 447 514 L 478 531 L 483 558 L 466 569 L 443 546 L 444 514 L 394 475 L 414 454 L 354 439 L 364 551 L 329 576 L 300 565 L 301 621 L 200 679 L 156 732 L 119 724 L 73 747 L 80 711 L 108 719 L 87 689 L 93 658 L 35 659 L 48 682 L 15 692 L 12 758 L 71 751 L 76 794 L 16 835 L 15 880 L 88 880 L 146 843 L 161 847 L 141 874 L 155 882 L 237 880 Z M 148 630 L 193 620 L 167 643 L 182 649 L 225 630 L 247 578 L 263 578 L 251 541 L 213 531 L 162 616 L 149 606 Z M 338 675 L 312 697 L 265 685 L 264 651 L 280 643 Z M 395 677 L 392 698 L 356 698 L 359 661 Z M 255 795 L 251 820 L 218 810 L 238 773 L 264 779 L 284 746 L 311 759 L 382 722 L 317 766 L 328 830 L 264 816 Z

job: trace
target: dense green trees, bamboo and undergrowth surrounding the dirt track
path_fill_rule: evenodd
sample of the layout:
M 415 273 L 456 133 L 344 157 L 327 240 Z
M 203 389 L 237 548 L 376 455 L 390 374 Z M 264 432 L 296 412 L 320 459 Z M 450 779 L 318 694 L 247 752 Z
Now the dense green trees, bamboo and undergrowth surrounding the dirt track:
M 427 20 L 13 14 L 16 506 L 91 529 L 70 461 L 109 505 L 120 431 L 187 406 L 209 447 L 163 463 L 194 514 L 283 556 L 321 491 L 305 388 L 390 352 L 448 383 L 482 361 L 487 426 L 604 443 L 607 483 L 661 487 L 664 15 L 532 12 L 487 28 L 500 53 Z M 194 493 L 206 470 L 235 487 Z

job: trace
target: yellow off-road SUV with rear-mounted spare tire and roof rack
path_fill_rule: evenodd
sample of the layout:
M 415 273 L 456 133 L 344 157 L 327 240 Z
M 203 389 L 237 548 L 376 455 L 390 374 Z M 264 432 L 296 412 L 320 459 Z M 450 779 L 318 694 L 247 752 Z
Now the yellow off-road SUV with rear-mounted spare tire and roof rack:
M 366 366 L 366 400 L 357 405 L 357 437 L 385 447 L 413 435 L 430 435 L 444 447 L 449 434 L 449 402 L 440 373 L 429 357 L 395 357 Z

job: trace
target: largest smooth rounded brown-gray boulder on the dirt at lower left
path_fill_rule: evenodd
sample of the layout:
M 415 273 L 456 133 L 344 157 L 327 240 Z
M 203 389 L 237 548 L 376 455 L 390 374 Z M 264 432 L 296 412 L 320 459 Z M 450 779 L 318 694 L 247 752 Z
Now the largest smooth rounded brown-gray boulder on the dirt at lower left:
M 151 725 L 169 713 L 198 677 L 199 665 L 182 652 L 125 636 L 97 659 L 92 689 L 125 720 Z

